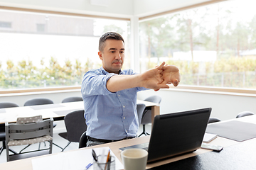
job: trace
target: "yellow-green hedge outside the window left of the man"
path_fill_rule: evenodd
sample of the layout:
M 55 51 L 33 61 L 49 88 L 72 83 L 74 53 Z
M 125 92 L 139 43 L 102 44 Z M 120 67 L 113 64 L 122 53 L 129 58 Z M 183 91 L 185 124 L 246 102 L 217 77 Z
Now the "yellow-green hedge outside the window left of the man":
M 75 60 L 74 65 L 70 60 L 65 60 L 61 67 L 54 57 L 50 58 L 49 67 L 44 66 L 43 59 L 42 68 L 35 67 L 30 60 L 21 60 L 17 65 L 8 60 L 6 64 L 7 68 L 3 70 L 0 62 L 0 89 L 80 85 L 83 74 L 93 65 L 90 60 L 87 60 L 85 67 L 81 66 L 79 60 Z

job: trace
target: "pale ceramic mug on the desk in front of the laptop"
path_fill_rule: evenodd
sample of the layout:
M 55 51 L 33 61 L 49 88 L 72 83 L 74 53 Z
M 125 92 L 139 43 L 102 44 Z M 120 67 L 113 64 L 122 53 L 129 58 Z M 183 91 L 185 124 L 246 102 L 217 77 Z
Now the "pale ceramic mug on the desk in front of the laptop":
M 124 170 L 145 170 L 148 152 L 144 149 L 126 149 L 121 152 Z

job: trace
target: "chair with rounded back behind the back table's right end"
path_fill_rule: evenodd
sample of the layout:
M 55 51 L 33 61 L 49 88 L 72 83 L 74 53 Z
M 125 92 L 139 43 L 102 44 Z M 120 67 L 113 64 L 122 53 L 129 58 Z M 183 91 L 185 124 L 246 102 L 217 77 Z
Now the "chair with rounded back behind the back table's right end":
M 161 97 L 160 96 L 150 96 L 146 98 L 144 101 L 150 101 L 153 103 L 161 103 Z M 142 125 L 143 125 L 143 132 L 141 135 L 150 135 L 148 132 L 146 132 L 146 124 L 151 123 L 151 108 L 145 108 L 144 113 L 142 115 Z M 139 135 L 139 137 L 141 136 Z

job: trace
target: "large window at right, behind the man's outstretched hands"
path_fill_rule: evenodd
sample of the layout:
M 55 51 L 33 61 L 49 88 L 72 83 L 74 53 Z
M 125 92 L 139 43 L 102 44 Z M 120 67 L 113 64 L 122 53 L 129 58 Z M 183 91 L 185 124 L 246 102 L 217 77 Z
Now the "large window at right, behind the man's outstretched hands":
M 247 0 L 223 1 L 141 21 L 141 72 L 166 61 L 181 84 L 256 88 L 256 11 Z

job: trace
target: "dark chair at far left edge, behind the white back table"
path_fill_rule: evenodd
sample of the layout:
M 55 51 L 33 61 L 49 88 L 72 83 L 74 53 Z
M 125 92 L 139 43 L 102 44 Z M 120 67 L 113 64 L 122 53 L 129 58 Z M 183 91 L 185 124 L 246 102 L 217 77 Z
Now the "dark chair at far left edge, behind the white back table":
M 18 107 L 18 105 L 16 103 L 11 103 L 11 102 L 0 102 L 0 108 L 14 108 L 14 107 Z M 3 146 L 0 147 L 0 154 L 1 154 L 1 152 L 3 152 L 3 150 L 6 149 L 6 145 L 5 145 L 6 134 L 5 134 L 4 124 L 0 124 L 0 141 L 2 141 L 3 143 Z M 16 154 L 16 152 L 14 152 L 11 149 L 9 149 L 9 151 Z

